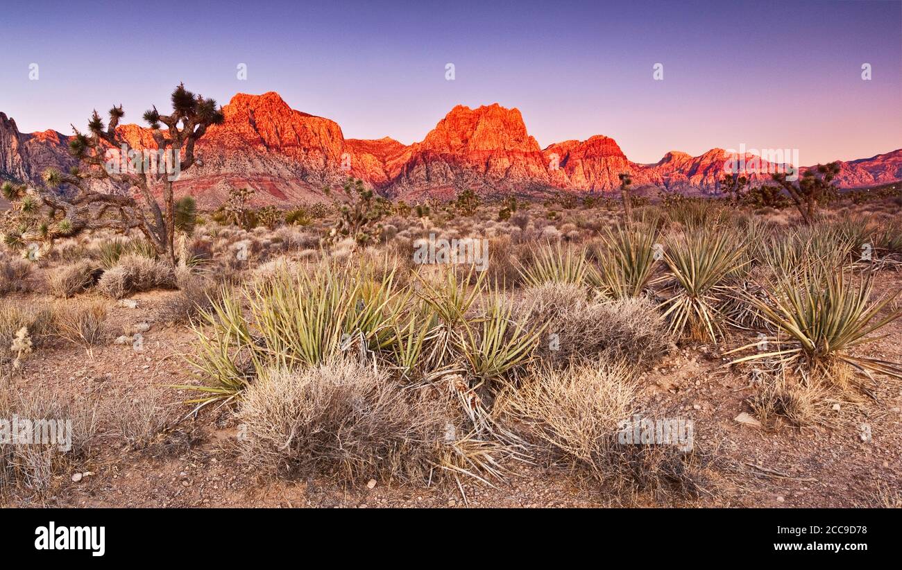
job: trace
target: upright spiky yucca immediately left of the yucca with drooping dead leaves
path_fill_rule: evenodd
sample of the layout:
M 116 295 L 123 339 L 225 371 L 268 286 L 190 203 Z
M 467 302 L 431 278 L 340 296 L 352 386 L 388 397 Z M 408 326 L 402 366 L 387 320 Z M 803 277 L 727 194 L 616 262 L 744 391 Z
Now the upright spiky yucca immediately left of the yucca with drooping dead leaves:
M 649 285 L 658 262 L 656 240 L 653 229 L 641 230 L 619 224 L 614 231 L 608 228 L 603 246 L 595 252 L 599 267 L 590 266 L 586 280 L 609 299 L 639 297 Z

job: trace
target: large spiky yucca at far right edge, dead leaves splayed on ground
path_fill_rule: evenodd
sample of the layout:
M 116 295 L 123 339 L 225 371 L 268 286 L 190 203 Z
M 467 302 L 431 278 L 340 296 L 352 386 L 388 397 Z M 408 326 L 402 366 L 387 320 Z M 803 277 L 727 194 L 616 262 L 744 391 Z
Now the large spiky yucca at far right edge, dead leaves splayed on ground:
M 851 366 L 868 376 L 871 372 L 880 372 L 902 379 L 899 363 L 851 354 L 856 346 L 879 338 L 870 336 L 871 333 L 902 317 L 902 309 L 890 307 L 899 291 L 871 300 L 872 274 L 853 279 L 845 270 L 825 271 L 815 265 L 804 271 L 781 275 L 774 290 L 768 291 L 768 299 L 749 299 L 770 328 L 778 333 L 769 339 L 778 350 L 752 354 L 732 363 L 779 357 L 787 364 L 819 372 L 827 378 L 842 372 L 836 369 L 839 364 Z M 887 308 L 887 313 L 879 316 Z M 731 353 L 755 345 L 758 342 L 741 346 Z

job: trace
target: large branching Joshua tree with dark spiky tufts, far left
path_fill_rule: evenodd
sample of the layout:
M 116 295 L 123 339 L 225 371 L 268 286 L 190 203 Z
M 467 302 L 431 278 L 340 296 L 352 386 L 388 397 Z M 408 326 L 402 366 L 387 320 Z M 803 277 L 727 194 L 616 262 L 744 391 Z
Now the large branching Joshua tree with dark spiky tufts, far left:
M 45 170 L 42 179 L 47 188 L 5 184 L 3 195 L 14 203 L 18 222 L 4 234 L 5 243 L 16 249 L 39 244 L 46 251 L 60 237 L 101 228 L 137 229 L 158 255 L 174 265 L 172 183 L 181 171 L 199 164 L 195 144 L 211 124 L 221 124 L 224 117 L 215 100 L 195 95 L 184 85 L 175 88 L 171 100 L 170 115 L 161 115 L 156 107 L 143 115 L 156 148 L 136 149 L 125 139 L 117 129 L 125 115 L 121 105 L 110 109 L 106 128 L 95 110 L 87 133 L 72 127 L 75 134 L 69 152 L 78 158 L 78 167 L 68 173 Z M 98 181 L 127 192 L 101 191 Z M 54 190 L 61 185 L 69 185 L 74 192 L 64 195 Z M 161 194 L 161 202 L 154 198 L 154 190 Z

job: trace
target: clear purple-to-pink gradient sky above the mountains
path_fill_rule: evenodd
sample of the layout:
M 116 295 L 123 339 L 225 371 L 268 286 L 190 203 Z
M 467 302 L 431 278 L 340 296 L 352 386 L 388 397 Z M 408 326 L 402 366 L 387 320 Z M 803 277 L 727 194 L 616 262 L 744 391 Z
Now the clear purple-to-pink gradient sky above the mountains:
M 804 165 L 902 147 L 899 1 L 78 4 L 4 6 L 0 111 L 23 132 L 70 133 L 114 103 L 139 121 L 184 81 L 222 104 L 278 91 L 347 138 L 416 142 L 457 104 L 497 102 L 542 147 L 606 134 L 637 162 L 741 143 L 799 149 Z

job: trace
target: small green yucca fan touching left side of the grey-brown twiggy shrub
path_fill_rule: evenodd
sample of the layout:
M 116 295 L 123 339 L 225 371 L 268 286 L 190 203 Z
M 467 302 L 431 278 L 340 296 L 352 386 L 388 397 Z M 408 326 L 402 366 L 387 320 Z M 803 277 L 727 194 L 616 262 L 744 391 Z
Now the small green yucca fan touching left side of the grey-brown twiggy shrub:
M 465 321 L 460 351 L 476 378 L 501 378 L 532 358 L 547 325 L 528 328 L 512 317 L 512 311 L 498 291 L 491 291 L 483 301 L 482 316 L 473 323 Z

